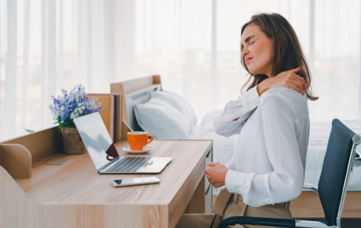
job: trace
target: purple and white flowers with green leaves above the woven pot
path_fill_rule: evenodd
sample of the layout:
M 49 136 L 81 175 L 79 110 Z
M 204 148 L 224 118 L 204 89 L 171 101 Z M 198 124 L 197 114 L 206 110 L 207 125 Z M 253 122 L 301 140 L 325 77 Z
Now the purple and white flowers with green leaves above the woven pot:
M 63 96 L 53 99 L 53 104 L 49 105 L 53 119 L 56 120 L 54 124 L 58 123 L 60 127 L 75 127 L 73 119 L 81 117 L 96 111 L 100 111 L 104 105 L 102 103 L 96 104 L 98 97 L 93 97 L 88 100 L 84 87 L 76 85 L 69 93 L 62 90 Z

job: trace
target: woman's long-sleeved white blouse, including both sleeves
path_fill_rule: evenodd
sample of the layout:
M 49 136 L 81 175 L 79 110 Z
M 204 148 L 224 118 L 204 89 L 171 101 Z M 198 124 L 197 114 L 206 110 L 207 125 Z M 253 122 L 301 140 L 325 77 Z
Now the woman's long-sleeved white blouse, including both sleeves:
M 233 121 L 238 118 L 237 121 Z M 287 202 L 303 188 L 310 120 L 307 95 L 257 87 L 229 101 L 214 123 L 226 137 L 239 133 L 226 187 L 252 207 Z

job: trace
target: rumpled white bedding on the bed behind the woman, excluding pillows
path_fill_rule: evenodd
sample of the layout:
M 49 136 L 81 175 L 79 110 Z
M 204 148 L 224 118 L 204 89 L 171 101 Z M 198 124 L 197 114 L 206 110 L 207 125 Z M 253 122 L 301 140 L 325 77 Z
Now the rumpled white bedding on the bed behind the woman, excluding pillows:
M 221 109 L 209 111 L 203 118 L 202 124 L 193 127 L 190 139 L 213 139 L 213 161 L 221 162 L 229 167 L 237 144 L 238 134 L 227 138 L 215 133 L 213 123 L 221 112 Z M 342 121 L 342 123 L 356 134 L 361 135 L 361 120 L 346 120 Z M 330 131 L 330 121 L 310 123 L 305 183 L 318 185 Z M 213 188 L 213 194 L 218 195 L 221 189 L 222 187 Z M 361 167 L 353 169 L 348 183 L 348 191 L 361 191 Z

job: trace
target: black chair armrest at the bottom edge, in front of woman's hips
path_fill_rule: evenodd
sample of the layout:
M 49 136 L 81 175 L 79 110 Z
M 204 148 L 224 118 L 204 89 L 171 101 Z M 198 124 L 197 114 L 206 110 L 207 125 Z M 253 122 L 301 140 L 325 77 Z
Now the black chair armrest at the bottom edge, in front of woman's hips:
M 266 225 L 266 226 L 277 226 L 277 227 L 295 227 L 294 219 L 283 219 L 283 218 L 260 218 L 260 217 L 247 217 L 247 216 L 233 216 L 224 219 L 218 228 L 226 228 L 229 225 Z

